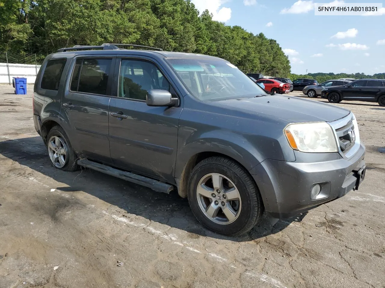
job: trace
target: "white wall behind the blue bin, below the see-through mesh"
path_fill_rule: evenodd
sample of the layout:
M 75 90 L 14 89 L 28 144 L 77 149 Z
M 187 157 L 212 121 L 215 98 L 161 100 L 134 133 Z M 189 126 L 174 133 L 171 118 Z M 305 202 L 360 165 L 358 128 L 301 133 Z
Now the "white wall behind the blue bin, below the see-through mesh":
M 30 64 L 8 64 L 9 74 L 12 77 L 24 77 L 27 78 L 28 84 L 35 83 L 36 74 L 39 72 L 40 65 L 30 65 Z M 0 63 L 0 84 L 8 84 L 8 71 L 7 63 Z

